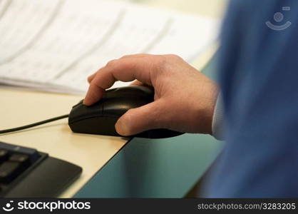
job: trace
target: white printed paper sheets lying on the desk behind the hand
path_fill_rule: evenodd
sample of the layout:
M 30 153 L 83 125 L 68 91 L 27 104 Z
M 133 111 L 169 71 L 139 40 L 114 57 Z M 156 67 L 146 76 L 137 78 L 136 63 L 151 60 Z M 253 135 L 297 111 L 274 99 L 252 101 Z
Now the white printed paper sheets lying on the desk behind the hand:
M 178 54 L 190 62 L 218 29 L 214 19 L 120 1 L 1 0 L 0 83 L 85 93 L 87 76 L 114 58 Z

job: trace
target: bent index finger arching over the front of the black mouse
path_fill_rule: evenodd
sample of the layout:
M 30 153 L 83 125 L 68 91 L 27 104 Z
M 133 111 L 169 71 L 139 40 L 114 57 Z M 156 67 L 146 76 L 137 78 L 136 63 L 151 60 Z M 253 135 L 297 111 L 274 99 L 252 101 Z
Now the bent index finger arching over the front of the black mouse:
M 119 58 L 110 61 L 93 77 L 83 103 L 87 106 L 98 101 L 107 88 L 113 86 L 115 81 L 133 81 L 137 79 L 152 85 L 150 73 L 155 67 L 156 60 L 153 55 L 137 58 Z

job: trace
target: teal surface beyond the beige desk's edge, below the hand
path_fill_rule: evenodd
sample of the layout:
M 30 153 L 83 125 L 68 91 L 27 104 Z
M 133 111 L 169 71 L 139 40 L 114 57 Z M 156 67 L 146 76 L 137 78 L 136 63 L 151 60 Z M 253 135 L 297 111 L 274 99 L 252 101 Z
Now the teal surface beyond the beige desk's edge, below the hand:
M 204 69 L 211 78 L 214 61 Z M 222 144 L 202 134 L 133 138 L 74 197 L 182 198 L 215 160 Z

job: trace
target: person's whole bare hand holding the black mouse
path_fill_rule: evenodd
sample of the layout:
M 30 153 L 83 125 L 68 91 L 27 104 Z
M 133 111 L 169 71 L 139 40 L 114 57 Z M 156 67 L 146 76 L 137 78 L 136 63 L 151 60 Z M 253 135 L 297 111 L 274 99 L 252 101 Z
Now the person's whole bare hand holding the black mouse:
M 115 81 L 153 86 L 154 101 L 133 108 L 115 124 L 122 136 L 153 128 L 188 133 L 212 134 L 212 116 L 217 99 L 216 84 L 175 55 L 136 54 L 108 62 L 88 77 L 90 83 L 83 103 L 98 101 Z

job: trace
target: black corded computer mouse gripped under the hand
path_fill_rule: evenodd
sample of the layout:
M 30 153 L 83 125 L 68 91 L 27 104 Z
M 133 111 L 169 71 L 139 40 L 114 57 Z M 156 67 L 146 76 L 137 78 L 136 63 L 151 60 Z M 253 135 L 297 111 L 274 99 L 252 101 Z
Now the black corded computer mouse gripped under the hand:
M 154 101 L 154 90 L 147 86 L 125 86 L 107 90 L 103 98 L 92 106 L 80 101 L 73 106 L 68 117 L 71 131 L 76 133 L 120 136 L 115 123 L 130 108 L 138 108 Z M 168 129 L 153 129 L 139 133 L 140 138 L 169 138 L 183 133 Z

